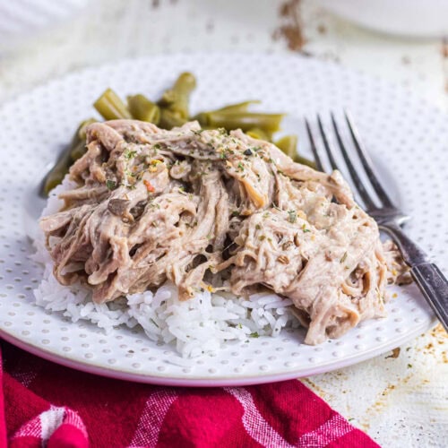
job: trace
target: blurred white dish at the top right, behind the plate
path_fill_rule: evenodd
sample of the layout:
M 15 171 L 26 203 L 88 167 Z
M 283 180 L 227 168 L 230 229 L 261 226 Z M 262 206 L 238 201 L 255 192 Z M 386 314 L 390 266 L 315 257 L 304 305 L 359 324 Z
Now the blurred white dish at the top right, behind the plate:
M 435 38 L 448 35 L 448 0 L 319 0 L 341 17 L 373 30 Z

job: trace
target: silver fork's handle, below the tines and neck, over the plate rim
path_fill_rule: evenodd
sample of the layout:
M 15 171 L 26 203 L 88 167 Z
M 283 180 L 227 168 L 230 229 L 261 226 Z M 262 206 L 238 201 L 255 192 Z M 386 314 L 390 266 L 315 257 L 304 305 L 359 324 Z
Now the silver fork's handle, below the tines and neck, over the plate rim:
M 433 308 L 435 315 L 448 332 L 448 280 L 427 255 L 395 224 L 380 225 L 401 251 L 403 260 L 409 264 L 412 278 Z

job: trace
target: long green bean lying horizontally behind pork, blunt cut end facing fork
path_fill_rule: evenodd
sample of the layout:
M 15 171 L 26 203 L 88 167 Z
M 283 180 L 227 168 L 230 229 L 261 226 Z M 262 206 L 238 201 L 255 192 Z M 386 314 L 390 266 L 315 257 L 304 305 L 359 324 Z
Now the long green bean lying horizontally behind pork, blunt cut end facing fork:
M 280 130 L 280 122 L 283 114 L 260 114 L 256 112 L 211 112 L 207 114 L 207 123 L 214 127 L 224 127 L 228 131 L 241 129 L 248 131 L 254 127 L 260 128 L 265 133 L 275 133 Z

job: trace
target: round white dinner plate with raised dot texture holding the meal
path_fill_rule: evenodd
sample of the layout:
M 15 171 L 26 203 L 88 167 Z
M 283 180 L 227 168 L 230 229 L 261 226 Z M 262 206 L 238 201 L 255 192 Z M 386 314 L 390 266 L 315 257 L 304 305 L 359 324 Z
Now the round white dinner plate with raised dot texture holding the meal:
M 387 318 L 362 323 L 340 340 L 311 347 L 302 343 L 303 331 L 287 330 L 277 338 L 228 342 L 216 353 L 185 360 L 142 331 L 119 328 L 106 334 L 33 303 L 32 289 L 42 275 L 41 266 L 29 259 L 27 237 L 36 228 L 40 206 L 33 195 L 36 179 L 76 125 L 93 115 L 91 103 L 106 87 L 122 96 L 143 92 L 157 98 L 184 70 L 198 78 L 194 112 L 263 99 L 263 110 L 287 112 L 287 130 L 304 135 L 303 116 L 349 108 L 393 198 L 413 217 L 406 231 L 443 269 L 448 266 L 444 114 L 389 83 L 299 56 L 151 56 L 72 73 L 0 110 L 1 336 L 42 358 L 99 375 L 173 385 L 237 385 L 349 366 L 429 329 L 434 316 L 415 285 L 409 285 L 391 289 L 398 297 L 388 303 Z

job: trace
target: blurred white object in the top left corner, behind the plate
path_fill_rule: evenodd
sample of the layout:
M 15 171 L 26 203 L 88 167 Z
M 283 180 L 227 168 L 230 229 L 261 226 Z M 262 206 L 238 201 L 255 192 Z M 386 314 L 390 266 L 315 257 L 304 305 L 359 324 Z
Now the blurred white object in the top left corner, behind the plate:
M 89 0 L 0 0 L 0 51 L 78 13 Z

